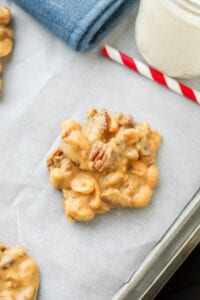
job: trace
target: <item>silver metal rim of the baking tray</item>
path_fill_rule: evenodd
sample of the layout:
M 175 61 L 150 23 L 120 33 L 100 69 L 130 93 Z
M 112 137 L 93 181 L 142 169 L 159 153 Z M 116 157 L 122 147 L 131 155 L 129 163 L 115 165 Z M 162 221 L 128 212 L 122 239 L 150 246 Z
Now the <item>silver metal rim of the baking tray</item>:
M 153 299 L 200 242 L 200 188 L 113 300 Z

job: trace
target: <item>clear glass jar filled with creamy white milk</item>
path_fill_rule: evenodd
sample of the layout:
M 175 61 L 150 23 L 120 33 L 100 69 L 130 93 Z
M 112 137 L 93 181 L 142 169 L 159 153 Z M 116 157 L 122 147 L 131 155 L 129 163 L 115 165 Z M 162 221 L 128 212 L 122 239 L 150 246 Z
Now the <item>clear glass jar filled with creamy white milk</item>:
M 144 59 L 172 77 L 200 75 L 200 0 L 141 0 L 136 43 Z

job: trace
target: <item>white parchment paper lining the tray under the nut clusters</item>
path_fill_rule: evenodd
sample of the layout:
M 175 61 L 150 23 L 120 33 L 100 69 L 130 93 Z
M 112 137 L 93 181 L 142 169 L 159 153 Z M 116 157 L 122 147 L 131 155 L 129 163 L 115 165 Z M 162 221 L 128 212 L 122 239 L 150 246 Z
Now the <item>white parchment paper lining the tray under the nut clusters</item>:
M 0 100 L 0 241 L 21 244 L 41 270 L 39 300 L 106 300 L 126 282 L 200 185 L 200 107 L 109 60 L 72 52 L 11 1 L 15 50 Z M 133 11 L 102 42 L 140 57 Z M 140 58 L 141 59 L 141 58 Z M 190 81 L 200 89 L 200 79 Z M 90 107 L 131 113 L 163 134 L 160 183 L 143 209 L 72 224 L 47 154 L 60 123 Z

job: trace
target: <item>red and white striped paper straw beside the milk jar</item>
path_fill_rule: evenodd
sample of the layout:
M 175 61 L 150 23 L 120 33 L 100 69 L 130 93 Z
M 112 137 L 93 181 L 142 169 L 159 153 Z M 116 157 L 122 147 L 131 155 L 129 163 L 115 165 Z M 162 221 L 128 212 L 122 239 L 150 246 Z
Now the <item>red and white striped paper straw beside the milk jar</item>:
M 102 54 L 110 58 L 111 60 L 114 60 L 122 64 L 123 66 L 126 66 L 133 71 L 138 72 L 143 76 L 164 85 L 170 90 L 189 98 L 193 102 L 200 104 L 200 92 L 184 85 L 181 82 L 178 82 L 171 77 L 168 77 L 167 75 L 164 75 L 163 73 L 155 70 L 150 66 L 147 66 L 146 64 L 136 60 L 135 58 L 127 56 L 126 54 L 110 46 L 105 46 L 102 49 Z

